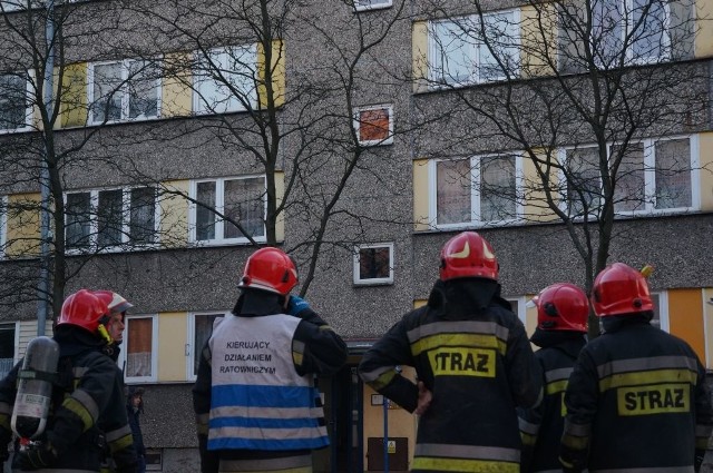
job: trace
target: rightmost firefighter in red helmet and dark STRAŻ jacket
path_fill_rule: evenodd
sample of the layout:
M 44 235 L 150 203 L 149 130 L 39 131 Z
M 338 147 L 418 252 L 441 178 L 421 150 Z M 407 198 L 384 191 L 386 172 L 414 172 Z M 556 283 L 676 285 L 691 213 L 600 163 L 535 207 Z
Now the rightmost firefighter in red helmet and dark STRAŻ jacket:
M 614 263 L 595 278 L 604 333 L 574 366 L 565 404 L 565 472 L 692 472 L 713 426 L 705 369 L 682 339 L 651 325 L 644 275 Z

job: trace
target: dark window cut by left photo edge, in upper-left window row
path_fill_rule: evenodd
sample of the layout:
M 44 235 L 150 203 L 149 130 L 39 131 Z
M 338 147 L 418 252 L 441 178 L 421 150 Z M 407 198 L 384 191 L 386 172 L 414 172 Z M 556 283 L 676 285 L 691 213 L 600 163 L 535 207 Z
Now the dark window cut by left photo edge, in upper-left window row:
M 22 75 L 0 76 L 0 132 L 30 128 L 30 81 Z

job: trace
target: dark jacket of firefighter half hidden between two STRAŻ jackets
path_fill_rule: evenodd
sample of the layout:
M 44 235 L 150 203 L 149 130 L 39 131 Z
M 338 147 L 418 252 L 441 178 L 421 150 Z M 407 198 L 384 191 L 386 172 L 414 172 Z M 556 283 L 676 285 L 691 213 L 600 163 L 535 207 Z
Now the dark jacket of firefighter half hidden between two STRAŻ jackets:
M 559 442 L 565 424 L 565 390 L 585 334 L 536 329 L 530 338 L 540 349 L 535 357 L 543 368 L 543 402 L 533 408 L 518 408 L 522 437 L 522 473 L 559 471 Z

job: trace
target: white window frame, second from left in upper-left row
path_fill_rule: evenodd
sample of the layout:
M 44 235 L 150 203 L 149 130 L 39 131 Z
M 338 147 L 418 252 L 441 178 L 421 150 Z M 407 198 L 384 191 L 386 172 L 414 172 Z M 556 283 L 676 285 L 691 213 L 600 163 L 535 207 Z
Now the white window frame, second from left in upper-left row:
M 145 116 L 144 114 L 141 114 L 137 117 L 133 117 L 133 118 L 130 117 L 131 93 L 129 89 L 131 87 L 131 82 L 136 81 L 137 78 L 129 78 L 129 72 L 130 72 L 131 65 L 135 62 L 147 62 L 148 65 L 145 65 L 145 67 L 158 68 L 158 66 L 153 66 L 150 61 L 141 61 L 137 59 L 123 59 L 118 61 L 102 61 L 102 62 L 89 63 L 89 68 L 87 71 L 87 100 L 89 104 L 89 117 L 88 117 L 89 125 L 99 125 L 105 122 L 118 124 L 124 121 L 144 121 L 144 120 L 155 120 L 157 118 L 160 118 L 163 91 L 162 91 L 162 80 L 159 78 L 154 79 L 154 87 L 156 90 L 156 115 Z M 101 97 L 95 97 L 95 68 L 101 67 L 101 66 L 113 66 L 113 65 L 118 65 L 121 73 L 121 79 L 120 79 L 121 85 L 117 90 L 114 91 L 114 93 L 121 95 L 120 117 L 118 119 L 107 118 L 106 120 L 95 120 L 95 116 L 94 116 L 95 109 L 96 109 L 95 104 L 97 100 L 102 99 Z M 140 77 L 138 79 L 140 80 Z M 104 115 L 104 110 L 101 111 L 101 114 Z

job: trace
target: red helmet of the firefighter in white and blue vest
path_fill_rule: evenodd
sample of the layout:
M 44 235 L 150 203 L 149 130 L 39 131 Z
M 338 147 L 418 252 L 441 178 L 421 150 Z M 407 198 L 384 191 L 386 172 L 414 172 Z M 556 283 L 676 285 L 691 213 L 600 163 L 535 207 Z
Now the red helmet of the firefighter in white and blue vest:
M 286 296 L 297 285 L 297 268 L 292 258 L 280 248 L 266 247 L 253 253 L 241 279 L 240 287 L 270 290 Z

